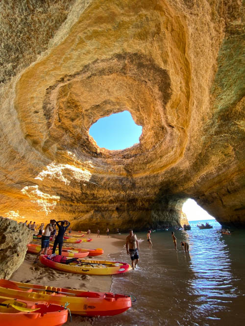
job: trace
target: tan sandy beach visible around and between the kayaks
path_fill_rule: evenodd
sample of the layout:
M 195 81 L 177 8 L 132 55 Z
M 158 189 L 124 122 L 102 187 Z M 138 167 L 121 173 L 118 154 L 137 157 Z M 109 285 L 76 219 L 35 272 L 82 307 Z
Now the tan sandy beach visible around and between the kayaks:
M 80 234 L 73 232 L 73 234 Z M 86 238 L 85 236 L 84 238 Z M 97 256 L 95 259 L 106 260 L 109 254 L 115 254 L 119 252 L 118 244 L 122 243 L 121 240 L 113 237 L 107 238 L 106 235 L 100 235 L 97 238 L 97 234 L 91 234 L 90 238 L 93 239 L 91 242 L 81 242 L 78 244 L 65 243 L 64 247 L 77 247 L 77 248 L 102 248 L 104 254 Z M 33 241 L 33 243 L 41 243 L 40 240 Z M 117 244 L 117 245 L 115 245 Z M 122 243 L 123 247 L 123 243 Z M 42 265 L 40 262 L 34 263 L 36 255 L 26 253 L 25 261 L 23 264 L 13 273 L 11 276 L 12 281 L 42 284 L 42 285 L 53 285 L 57 287 L 66 287 L 72 289 L 80 289 L 85 291 L 97 291 L 97 292 L 109 292 L 111 287 L 112 278 L 111 276 L 89 276 L 89 275 L 78 275 L 72 273 L 65 273 L 62 271 L 50 269 Z M 64 325 L 91 325 L 93 318 L 81 317 L 78 315 L 72 315 L 72 322 L 69 321 Z

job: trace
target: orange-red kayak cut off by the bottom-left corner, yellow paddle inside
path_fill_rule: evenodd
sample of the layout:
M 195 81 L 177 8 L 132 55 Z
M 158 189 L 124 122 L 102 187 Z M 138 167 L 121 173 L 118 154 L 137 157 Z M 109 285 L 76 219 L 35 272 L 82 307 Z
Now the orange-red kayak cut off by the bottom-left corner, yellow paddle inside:
M 61 326 L 66 323 L 67 316 L 68 310 L 58 304 L 0 297 L 2 326 Z

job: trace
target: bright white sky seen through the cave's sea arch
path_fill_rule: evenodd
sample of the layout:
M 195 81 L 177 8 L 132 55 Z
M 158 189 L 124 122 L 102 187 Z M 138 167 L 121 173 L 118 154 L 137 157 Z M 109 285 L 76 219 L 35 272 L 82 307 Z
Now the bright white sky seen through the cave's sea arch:
M 188 198 L 182 206 L 182 212 L 186 215 L 188 222 L 215 220 L 215 217 L 208 214 L 202 207 L 200 207 L 194 199 Z

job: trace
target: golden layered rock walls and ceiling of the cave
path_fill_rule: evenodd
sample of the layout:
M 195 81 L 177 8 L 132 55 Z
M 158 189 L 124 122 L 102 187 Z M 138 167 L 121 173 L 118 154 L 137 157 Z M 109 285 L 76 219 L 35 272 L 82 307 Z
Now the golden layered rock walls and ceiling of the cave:
M 11 4 L 12 2 L 12 4 Z M 245 226 L 242 0 L 1 2 L 0 213 L 102 230 Z M 128 110 L 140 143 L 89 128 Z

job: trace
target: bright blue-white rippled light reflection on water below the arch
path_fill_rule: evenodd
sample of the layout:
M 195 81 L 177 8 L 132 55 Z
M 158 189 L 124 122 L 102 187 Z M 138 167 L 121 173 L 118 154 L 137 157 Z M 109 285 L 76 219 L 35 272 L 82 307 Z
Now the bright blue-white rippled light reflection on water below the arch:
M 229 249 L 216 231 L 194 229 L 189 233 L 195 273 L 192 285 L 198 296 L 194 314 L 196 319 L 206 319 L 207 325 L 221 320 L 222 312 L 229 311 L 231 298 L 237 296 Z

